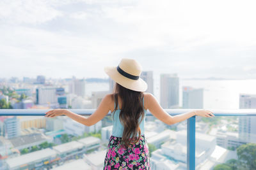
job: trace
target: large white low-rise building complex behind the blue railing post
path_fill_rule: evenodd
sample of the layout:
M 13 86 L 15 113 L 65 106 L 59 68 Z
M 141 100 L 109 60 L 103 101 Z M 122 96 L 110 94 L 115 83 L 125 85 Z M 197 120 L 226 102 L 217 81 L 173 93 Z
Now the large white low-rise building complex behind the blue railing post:
M 166 160 L 172 160 L 174 164 L 173 169 L 186 169 L 186 138 L 186 131 L 177 131 L 176 141 L 167 141 L 161 145 L 161 149 L 152 152 L 152 157 L 150 157 L 153 167 L 152 169 L 161 168 L 161 166 L 164 166 L 163 164 L 165 164 L 164 161 Z M 196 166 L 211 157 L 214 150 L 216 150 L 216 138 L 214 136 L 196 132 Z

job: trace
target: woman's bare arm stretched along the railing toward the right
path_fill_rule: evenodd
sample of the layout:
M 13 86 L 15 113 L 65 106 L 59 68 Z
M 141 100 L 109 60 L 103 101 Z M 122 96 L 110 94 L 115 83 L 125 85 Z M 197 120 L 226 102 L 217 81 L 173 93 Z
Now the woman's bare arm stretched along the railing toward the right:
M 176 124 L 178 122 L 182 122 L 193 116 L 200 117 L 214 117 L 213 113 L 209 110 L 192 110 L 186 113 L 182 113 L 180 115 L 171 116 L 163 108 L 160 106 L 156 97 L 152 94 L 147 93 L 147 108 L 154 115 L 154 117 L 158 118 L 162 122 L 168 125 Z

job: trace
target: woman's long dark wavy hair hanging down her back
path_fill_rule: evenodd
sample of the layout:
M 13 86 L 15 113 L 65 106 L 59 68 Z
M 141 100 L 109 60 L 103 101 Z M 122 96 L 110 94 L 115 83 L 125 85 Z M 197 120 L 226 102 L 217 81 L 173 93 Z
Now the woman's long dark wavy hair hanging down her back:
M 114 111 L 117 110 L 118 96 L 120 96 L 122 101 L 122 109 L 119 115 L 120 122 L 124 125 L 122 142 L 124 146 L 128 148 L 137 143 L 141 137 L 140 122 L 143 120 L 145 115 L 142 102 L 143 92 L 136 92 L 115 83 L 113 91 L 113 100 L 115 101 Z M 139 122 L 140 117 L 141 120 Z M 137 132 L 139 132 L 138 138 L 136 137 Z

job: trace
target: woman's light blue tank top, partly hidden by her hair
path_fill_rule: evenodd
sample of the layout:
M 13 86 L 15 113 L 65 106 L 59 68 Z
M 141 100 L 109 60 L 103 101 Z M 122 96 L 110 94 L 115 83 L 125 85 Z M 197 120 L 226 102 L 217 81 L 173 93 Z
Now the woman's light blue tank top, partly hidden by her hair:
M 143 96 L 143 106 L 144 106 L 144 96 Z M 113 129 L 112 129 L 112 136 L 116 136 L 116 137 L 121 137 L 123 136 L 123 131 L 124 131 L 124 126 L 122 125 L 122 123 L 120 122 L 119 119 L 119 115 L 120 115 L 120 109 L 119 106 L 117 105 L 118 109 L 116 110 L 116 113 L 114 115 L 114 120 L 113 120 Z M 116 108 L 116 104 L 115 104 L 115 108 Z M 146 113 L 147 110 L 144 109 L 144 112 Z M 113 116 L 113 113 L 115 111 L 111 112 L 111 116 Z M 144 116 L 143 120 L 140 123 L 140 131 L 141 131 L 141 135 L 144 134 L 144 125 L 145 125 L 145 118 L 146 116 Z M 139 122 L 141 120 L 141 117 L 139 119 Z M 137 134 L 137 136 L 139 136 L 139 134 Z M 131 137 L 130 137 L 131 138 Z

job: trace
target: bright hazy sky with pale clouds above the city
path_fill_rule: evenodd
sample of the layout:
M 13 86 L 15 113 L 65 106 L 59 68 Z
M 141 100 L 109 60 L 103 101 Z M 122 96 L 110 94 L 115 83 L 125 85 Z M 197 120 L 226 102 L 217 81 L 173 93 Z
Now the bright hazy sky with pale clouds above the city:
M 256 78 L 255 1 L 1 0 L 0 78 L 108 78 L 136 59 L 180 78 Z

